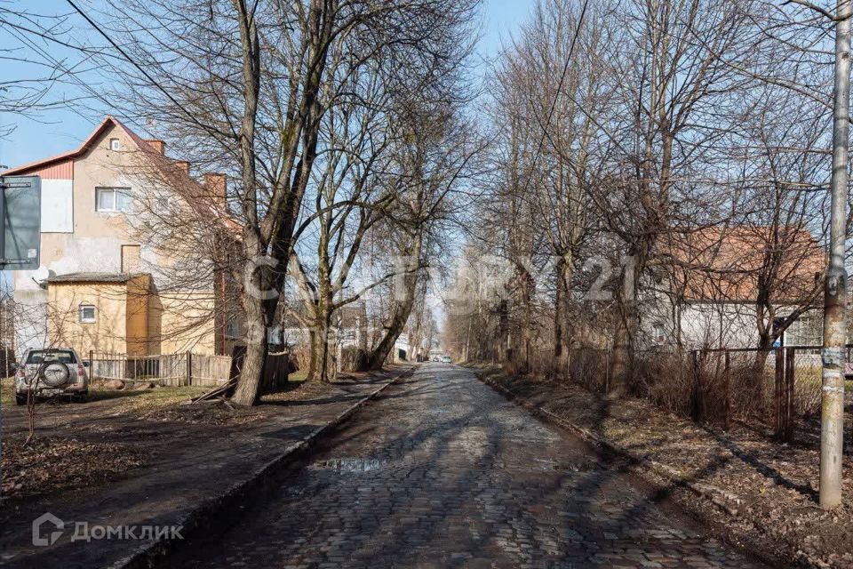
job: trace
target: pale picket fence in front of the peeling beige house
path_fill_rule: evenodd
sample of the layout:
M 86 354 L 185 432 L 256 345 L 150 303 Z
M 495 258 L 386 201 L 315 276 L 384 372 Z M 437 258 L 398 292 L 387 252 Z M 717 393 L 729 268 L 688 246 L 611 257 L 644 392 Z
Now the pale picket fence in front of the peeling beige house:
M 128 356 L 92 351 L 89 362 L 92 378 L 101 380 L 215 387 L 227 383 L 231 377 L 230 356 L 208 356 L 192 352 Z

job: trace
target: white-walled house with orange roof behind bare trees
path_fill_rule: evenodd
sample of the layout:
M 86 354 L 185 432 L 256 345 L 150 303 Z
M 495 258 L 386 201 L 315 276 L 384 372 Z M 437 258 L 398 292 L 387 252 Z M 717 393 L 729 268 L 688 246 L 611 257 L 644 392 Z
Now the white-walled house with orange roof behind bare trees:
M 647 345 L 756 348 L 761 327 L 785 345 L 821 342 L 826 257 L 808 229 L 704 228 L 665 247 L 667 274 L 643 307 Z

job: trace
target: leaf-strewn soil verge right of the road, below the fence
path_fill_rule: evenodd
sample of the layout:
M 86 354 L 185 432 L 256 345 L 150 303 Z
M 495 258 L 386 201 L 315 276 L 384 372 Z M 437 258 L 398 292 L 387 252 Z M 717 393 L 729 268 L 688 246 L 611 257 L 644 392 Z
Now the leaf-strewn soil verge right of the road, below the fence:
M 494 368 L 480 373 L 519 403 L 553 413 L 703 488 L 700 497 L 642 462 L 636 467 L 729 541 L 783 565 L 853 567 L 853 461 L 845 456 L 844 504 L 820 509 L 814 424 L 801 426 L 793 445 L 779 445 L 764 427 L 737 423 L 723 432 L 631 397 L 605 399 L 577 385 L 508 377 Z

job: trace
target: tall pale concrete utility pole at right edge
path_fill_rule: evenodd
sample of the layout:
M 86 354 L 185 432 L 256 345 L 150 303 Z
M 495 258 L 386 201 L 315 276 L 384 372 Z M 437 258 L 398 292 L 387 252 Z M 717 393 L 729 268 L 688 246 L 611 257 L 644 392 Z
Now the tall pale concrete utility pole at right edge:
M 850 110 L 850 0 L 837 1 L 835 97 L 833 103 L 833 184 L 829 267 L 824 288 L 823 393 L 820 421 L 820 505 L 841 504 L 844 450 L 844 362 L 847 359 L 847 168 Z

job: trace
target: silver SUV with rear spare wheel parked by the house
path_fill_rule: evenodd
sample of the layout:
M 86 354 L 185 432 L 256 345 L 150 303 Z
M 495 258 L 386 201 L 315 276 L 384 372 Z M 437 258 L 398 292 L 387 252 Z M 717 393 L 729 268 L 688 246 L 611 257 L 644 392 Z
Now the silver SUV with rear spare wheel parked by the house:
M 70 348 L 28 349 L 15 371 L 15 402 L 27 405 L 30 391 L 35 397 L 84 399 L 89 395 L 88 365 Z

